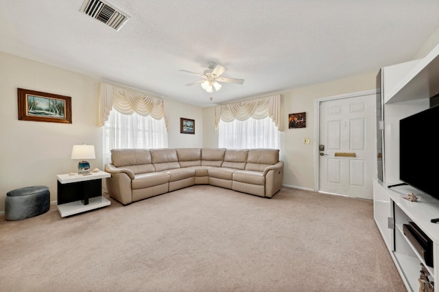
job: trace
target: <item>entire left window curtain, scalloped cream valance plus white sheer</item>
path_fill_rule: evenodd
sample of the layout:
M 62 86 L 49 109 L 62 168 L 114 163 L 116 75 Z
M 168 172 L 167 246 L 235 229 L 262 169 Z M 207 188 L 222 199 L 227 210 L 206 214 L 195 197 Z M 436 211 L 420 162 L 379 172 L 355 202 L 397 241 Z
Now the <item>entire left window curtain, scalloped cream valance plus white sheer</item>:
M 104 165 L 111 160 L 111 149 L 167 147 L 163 99 L 101 83 L 98 105 L 97 123 L 104 126 Z

